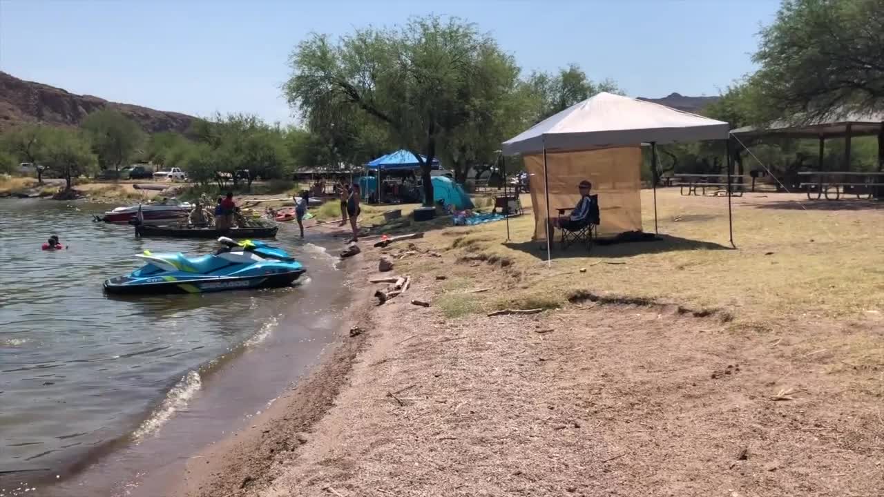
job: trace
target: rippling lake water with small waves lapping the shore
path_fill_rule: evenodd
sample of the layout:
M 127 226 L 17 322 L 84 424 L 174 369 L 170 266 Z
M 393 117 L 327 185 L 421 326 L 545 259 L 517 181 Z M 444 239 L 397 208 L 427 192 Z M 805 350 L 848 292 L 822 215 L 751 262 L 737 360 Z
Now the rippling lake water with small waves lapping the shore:
M 4 495 L 126 493 L 157 455 L 185 457 L 263 409 L 315 362 L 347 304 L 335 258 L 297 226 L 271 244 L 307 266 L 298 286 L 107 296 L 104 279 L 141 265 L 133 254 L 216 243 L 136 239 L 93 222 L 101 210 L 0 199 Z M 50 234 L 67 248 L 42 251 Z

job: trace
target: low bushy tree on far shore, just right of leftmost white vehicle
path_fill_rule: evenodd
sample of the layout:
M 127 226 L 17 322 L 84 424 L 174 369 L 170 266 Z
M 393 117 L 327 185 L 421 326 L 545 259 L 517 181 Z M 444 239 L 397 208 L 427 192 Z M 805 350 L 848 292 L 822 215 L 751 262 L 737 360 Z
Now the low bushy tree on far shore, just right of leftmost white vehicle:
M 65 179 L 65 191 L 73 187 L 73 180 L 97 171 L 98 159 L 92 152 L 88 137 L 79 131 L 65 128 L 45 132 L 44 164 L 57 176 Z

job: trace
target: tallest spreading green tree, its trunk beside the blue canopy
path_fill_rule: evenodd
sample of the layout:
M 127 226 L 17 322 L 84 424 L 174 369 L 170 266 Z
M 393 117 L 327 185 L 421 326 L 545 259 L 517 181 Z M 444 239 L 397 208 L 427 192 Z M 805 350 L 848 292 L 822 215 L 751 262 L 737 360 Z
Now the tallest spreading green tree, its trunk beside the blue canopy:
M 470 119 L 488 50 L 498 50 L 496 43 L 474 25 L 438 16 L 360 29 L 338 42 L 316 34 L 293 51 L 285 93 L 308 119 L 343 106 L 382 125 L 391 144 L 421 164 L 424 203 L 431 204 L 432 161 L 443 134 Z

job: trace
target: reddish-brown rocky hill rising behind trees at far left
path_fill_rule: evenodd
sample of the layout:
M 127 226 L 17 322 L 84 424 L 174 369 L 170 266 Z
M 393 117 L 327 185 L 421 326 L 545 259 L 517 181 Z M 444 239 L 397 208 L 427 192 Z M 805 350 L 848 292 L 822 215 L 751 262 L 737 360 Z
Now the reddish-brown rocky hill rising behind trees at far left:
M 74 95 L 61 88 L 19 80 L 0 71 L 0 133 L 29 122 L 76 126 L 90 112 L 110 107 L 133 119 L 144 131 L 183 132 L 195 118 L 178 112 L 155 111 L 129 103 L 108 102 L 90 95 Z

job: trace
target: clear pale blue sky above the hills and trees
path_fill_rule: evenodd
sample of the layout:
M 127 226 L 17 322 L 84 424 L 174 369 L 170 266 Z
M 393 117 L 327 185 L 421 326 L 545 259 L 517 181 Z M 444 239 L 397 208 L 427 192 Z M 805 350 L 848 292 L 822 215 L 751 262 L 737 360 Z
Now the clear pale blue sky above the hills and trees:
M 475 22 L 523 71 L 577 63 L 629 96 L 717 95 L 751 72 L 776 0 L 0 0 L 0 70 L 78 94 L 292 122 L 279 85 L 311 32 L 436 13 Z

